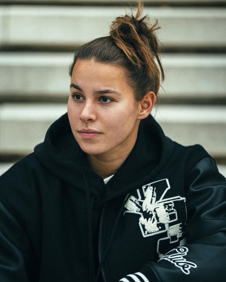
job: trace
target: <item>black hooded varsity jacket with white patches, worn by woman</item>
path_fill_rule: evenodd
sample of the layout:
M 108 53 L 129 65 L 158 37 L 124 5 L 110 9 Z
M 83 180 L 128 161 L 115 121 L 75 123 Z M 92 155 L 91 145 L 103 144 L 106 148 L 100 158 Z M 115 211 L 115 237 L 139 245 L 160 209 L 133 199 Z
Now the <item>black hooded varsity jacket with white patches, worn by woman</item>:
M 152 116 L 105 185 L 65 114 L 0 178 L 0 281 L 223 282 L 225 199 L 208 153 Z

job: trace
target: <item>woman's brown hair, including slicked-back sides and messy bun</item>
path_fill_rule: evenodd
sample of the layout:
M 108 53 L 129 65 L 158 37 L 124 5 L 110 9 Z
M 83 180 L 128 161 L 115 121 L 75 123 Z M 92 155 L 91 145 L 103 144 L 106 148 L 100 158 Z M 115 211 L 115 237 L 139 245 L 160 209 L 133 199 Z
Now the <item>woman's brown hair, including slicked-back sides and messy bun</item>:
M 157 95 L 160 78 L 164 80 L 155 35 L 159 28 L 158 21 L 151 26 L 147 15 L 140 18 L 142 10 L 139 1 L 135 17 L 132 12 L 131 15 L 117 17 L 112 22 L 110 36 L 99 37 L 80 46 L 69 68 L 70 76 L 77 59 L 94 59 L 96 62 L 124 67 L 127 82 L 134 89 L 136 101 L 141 101 L 148 91 Z

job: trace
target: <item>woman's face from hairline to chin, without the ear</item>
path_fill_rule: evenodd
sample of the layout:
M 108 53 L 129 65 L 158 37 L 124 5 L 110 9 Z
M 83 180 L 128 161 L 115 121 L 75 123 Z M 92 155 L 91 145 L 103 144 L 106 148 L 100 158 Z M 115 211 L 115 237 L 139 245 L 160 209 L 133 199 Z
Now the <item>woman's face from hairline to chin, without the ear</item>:
M 134 144 L 139 104 L 123 67 L 77 60 L 72 72 L 68 117 L 72 133 L 87 154 L 117 153 Z M 134 141 L 134 142 L 133 142 Z

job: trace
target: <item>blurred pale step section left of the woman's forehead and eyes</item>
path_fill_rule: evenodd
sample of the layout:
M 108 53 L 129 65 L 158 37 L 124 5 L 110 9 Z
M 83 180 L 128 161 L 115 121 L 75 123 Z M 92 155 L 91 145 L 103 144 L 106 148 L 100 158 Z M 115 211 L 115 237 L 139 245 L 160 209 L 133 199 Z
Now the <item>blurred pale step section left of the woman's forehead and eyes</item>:
M 73 53 L 0 52 L 0 97 L 51 100 L 68 96 L 72 59 Z

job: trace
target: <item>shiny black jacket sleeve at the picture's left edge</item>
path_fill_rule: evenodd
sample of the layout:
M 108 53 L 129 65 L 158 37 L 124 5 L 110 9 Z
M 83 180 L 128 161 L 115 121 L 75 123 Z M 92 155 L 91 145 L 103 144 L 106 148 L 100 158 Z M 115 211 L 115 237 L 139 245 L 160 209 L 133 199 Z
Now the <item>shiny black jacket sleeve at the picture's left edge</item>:
M 27 198 L 18 187 L 26 186 L 25 171 L 16 165 L 0 177 L 0 281 L 33 282 L 34 251 L 20 210 L 29 214 Z M 25 216 L 24 216 L 25 217 Z

